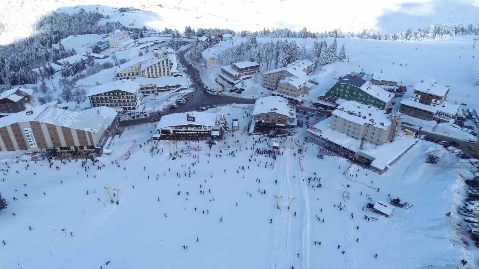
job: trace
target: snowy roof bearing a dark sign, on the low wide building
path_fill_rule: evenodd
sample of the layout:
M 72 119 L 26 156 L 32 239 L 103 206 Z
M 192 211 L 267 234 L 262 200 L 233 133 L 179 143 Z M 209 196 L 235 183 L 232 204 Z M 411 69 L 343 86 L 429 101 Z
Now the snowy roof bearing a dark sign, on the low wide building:
M 186 117 L 194 117 L 194 122 L 186 120 Z M 0 119 L 1 120 L 1 119 Z M 157 129 L 162 129 L 171 126 L 177 125 L 202 125 L 202 126 L 215 126 L 216 124 L 216 114 L 208 112 L 184 112 L 184 113 L 173 113 L 169 115 L 164 115 L 160 118 L 160 122 L 156 126 Z

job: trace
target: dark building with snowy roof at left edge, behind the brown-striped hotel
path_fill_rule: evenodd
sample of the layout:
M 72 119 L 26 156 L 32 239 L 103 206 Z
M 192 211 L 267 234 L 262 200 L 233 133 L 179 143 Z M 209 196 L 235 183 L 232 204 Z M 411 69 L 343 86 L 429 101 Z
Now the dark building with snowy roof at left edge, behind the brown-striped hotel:
M 33 90 L 17 87 L 0 93 L 0 112 L 16 113 L 25 110 L 32 98 Z

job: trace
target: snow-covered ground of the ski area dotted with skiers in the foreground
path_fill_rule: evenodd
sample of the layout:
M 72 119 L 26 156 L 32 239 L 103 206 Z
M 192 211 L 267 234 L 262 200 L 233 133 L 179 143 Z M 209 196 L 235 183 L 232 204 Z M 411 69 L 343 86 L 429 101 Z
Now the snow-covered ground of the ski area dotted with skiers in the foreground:
M 113 140 L 113 155 L 94 165 L 87 161 L 86 171 L 80 161 L 68 160 L 66 165 L 54 160 L 52 168 L 29 161 L 26 170 L 26 163 L 14 162 L 22 153 L 1 152 L 0 160 L 10 163 L 0 182 L 10 202 L 0 213 L 2 267 L 109 268 L 105 263 L 111 261 L 114 268 L 456 268 L 465 258 L 477 268 L 478 249 L 456 213 L 466 189 L 458 173 L 471 177 L 469 164 L 420 141 L 379 176 L 339 157 L 318 159 L 317 146 L 302 145 L 306 128 L 295 137 L 306 153 L 295 156 L 298 146 L 291 149 L 288 139 L 274 160 L 255 155 L 251 147 L 271 149 L 275 140 L 242 132 L 251 110 L 251 105 L 218 107 L 228 122 L 239 118 L 240 132 L 211 149 L 204 142 L 180 142 L 176 149 L 161 141 L 152 154 L 152 143 L 139 145 L 155 124 L 129 127 Z M 171 160 L 169 154 L 181 150 L 182 157 Z M 433 151 L 440 162 L 424 163 Z M 308 184 L 309 177 L 320 181 Z M 119 205 L 109 202 L 103 186 L 120 189 Z M 413 206 L 395 208 L 390 218 L 362 211 L 369 197 L 388 202 L 389 193 Z M 274 194 L 282 195 L 279 210 Z M 296 199 L 287 210 L 289 197 Z M 361 219 L 364 215 L 370 220 Z

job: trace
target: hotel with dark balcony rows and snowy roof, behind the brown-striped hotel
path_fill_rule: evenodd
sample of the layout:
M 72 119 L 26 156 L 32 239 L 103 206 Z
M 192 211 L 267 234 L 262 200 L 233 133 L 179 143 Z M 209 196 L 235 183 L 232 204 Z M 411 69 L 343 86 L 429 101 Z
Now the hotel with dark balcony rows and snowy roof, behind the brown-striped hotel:
M 121 79 L 91 88 L 86 95 L 92 108 L 122 107 L 124 110 L 137 110 L 143 103 L 143 94 L 137 82 Z

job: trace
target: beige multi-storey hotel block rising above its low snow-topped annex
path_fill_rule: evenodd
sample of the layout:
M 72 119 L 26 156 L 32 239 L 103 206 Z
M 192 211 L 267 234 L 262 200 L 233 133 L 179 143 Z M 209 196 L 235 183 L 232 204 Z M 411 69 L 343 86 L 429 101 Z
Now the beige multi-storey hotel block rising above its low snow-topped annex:
M 345 101 L 332 112 L 330 128 L 354 139 L 383 145 L 394 139 L 401 123 L 401 113 L 387 114 L 367 104 Z

